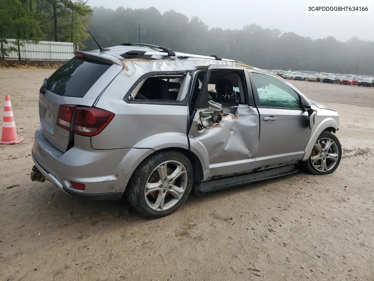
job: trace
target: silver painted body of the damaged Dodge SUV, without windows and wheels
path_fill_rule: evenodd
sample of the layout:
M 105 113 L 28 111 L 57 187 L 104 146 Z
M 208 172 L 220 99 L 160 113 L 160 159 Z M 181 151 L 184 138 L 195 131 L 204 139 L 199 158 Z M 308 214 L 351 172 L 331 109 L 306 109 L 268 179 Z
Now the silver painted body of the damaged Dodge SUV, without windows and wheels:
M 116 46 L 105 52 L 81 52 L 86 58 L 111 61 L 84 97 L 59 96 L 48 90 L 39 94 L 40 126 L 35 133 L 32 158 L 49 181 L 69 194 L 119 199 L 138 165 L 162 149 L 174 148 L 193 155 L 196 166 L 201 165 L 202 181 L 297 163 L 309 158 L 321 132 L 338 130 L 337 112 L 309 100 L 292 84 L 272 73 L 233 60 L 183 53 L 170 58 L 155 52 L 152 60 L 120 56 L 133 49 L 154 51 Z M 215 111 L 211 107 L 198 108 L 190 120 L 187 118 L 191 115 L 188 100 L 192 82 L 200 70 L 225 69 L 245 75 L 249 100 L 254 97 L 255 101 L 239 105 L 235 111 L 222 106 L 227 115 L 221 122 L 200 130 L 200 114 L 208 120 Z M 134 89 L 144 78 L 162 73 L 184 76 L 180 102 L 132 98 Z M 308 113 L 303 109 L 256 106 L 258 89 L 253 73 L 278 79 L 291 87 L 303 104 L 309 104 L 316 113 L 311 129 Z M 113 112 L 115 117 L 96 136 L 74 135 L 56 126 L 60 105 L 93 106 Z M 269 116 L 275 117 L 276 122 L 266 121 Z M 86 188 L 77 189 L 71 182 L 84 183 Z

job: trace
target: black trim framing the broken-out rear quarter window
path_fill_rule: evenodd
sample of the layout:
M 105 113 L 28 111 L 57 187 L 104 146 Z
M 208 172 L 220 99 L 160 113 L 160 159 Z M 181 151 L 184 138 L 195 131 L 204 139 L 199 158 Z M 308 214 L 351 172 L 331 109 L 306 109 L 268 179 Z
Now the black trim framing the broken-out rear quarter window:
M 154 72 L 148 72 L 142 75 L 128 90 L 128 92 L 125 94 L 125 97 L 123 97 L 123 100 L 126 103 L 138 103 L 138 104 L 147 104 L 147 105 L 179 105 L 179 106 L 187 106 L 188 104 L 188 99 L 190 96 L 190 91 L 189 89 L 187 90 L 186 97 L 183 100 L 176 101 L 176 100 L 132 100 L 129 99 L 129 96 L 131 95 L 132 91 L 139 85 L 141 81 L 144 79 L 151 77 L 151 76 L 162 76 L 162 75 L 191 75 L 193 73 L 193 70 L 178 70 L 178 71 L 154 71 Z M 190 79 L 191 81 L 192 79 Z M 191 82 L 190 82 L 191 84 Z M 188 85 L 188 87 L 191 87 L 191 85 Z

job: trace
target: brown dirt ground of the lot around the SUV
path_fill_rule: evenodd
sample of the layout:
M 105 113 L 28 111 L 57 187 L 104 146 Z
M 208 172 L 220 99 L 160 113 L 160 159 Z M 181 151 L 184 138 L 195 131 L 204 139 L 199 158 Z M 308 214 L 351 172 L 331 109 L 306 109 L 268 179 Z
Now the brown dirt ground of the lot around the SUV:
M 147 220 L 30 181 L 37 93 L 52 72 L 0 69 L 25 138 L 0 145 L 0 280 L 374 280 L 374 88 L 293 82 L 340 113 L 331 175 L 191 195 Z

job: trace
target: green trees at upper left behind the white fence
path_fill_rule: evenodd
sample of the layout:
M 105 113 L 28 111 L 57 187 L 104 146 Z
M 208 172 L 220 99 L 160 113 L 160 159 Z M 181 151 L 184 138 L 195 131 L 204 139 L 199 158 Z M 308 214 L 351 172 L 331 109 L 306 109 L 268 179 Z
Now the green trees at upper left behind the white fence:
M 91 15 L 84 0 L 0 0 L 0 58 L 17 51 L 21 59 L 23 40 L 79 42 L 84 48 Z M 15 49 L 6 47 L 10 38 L 17 40 Z

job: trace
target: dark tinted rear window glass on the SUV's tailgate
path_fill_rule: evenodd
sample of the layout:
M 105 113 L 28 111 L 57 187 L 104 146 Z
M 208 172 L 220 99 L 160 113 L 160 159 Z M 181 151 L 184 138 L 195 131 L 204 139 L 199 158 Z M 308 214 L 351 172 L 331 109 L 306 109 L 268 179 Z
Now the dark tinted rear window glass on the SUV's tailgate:
M 111 64 L 74 57 L 49 78 L 47 90 L 59 96 L 84 97 Z

